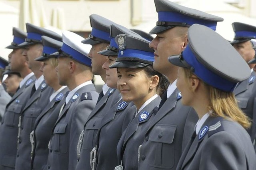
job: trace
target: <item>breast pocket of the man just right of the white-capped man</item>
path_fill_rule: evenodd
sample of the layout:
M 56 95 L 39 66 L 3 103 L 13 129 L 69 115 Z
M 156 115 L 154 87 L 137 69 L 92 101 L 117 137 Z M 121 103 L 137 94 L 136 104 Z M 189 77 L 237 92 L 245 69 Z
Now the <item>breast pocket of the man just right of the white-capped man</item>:
M 95 136 L 101 126 L 103 117 L 92 118 L 85 126 L 86 132 L 84 133 L 84 140 L 87 142 L 83 143 L 82 148 L 86 150 L 92 150 L 96 146 Z

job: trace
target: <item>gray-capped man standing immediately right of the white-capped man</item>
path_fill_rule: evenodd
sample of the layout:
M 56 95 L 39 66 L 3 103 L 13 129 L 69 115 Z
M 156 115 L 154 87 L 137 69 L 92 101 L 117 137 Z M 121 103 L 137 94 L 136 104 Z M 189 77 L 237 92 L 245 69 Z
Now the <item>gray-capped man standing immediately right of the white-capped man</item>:
M 106 72 L 102 69 L 102 65 L 107 60 L 107 56 L 98 54 L 97 52 L 105 50 L 110 44 L 110 25 L 114 22 L 96 15 L 90 15 L 92 32 L 88 38 L 82 41 L 84 44 L 92 44 L 92 49 L 88 56 L 92 58 L 92 73 L 100 75 L 102 80 L 106 82 Z M 101 98 L 102 97 L 102 98 Z M 102 118 L 106 115 L 106 110 L 110 110 L 121 98 L 120 93 L 115 88 L 109 88 L 106 84 L 103 85 L 102 92 L 95 108 L 92 110 L 88 120 L 84 124 L 84 130 L 81 133 L 82 149 L 76 170 L 90 170 L 90 153 L 96 145 L 95 136 L 98 129 L 102 126 Z

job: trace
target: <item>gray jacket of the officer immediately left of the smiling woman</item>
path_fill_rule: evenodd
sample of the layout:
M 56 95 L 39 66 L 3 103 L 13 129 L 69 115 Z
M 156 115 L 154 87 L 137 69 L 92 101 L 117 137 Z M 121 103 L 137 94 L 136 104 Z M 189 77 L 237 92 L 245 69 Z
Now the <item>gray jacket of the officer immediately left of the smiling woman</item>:
M 114 170 L 118 164 L 116 147 L 129 122 L 134 118 L 136 106 L 133 102 L 117 102 L 103 117 L 96 135 L 96 170 Z

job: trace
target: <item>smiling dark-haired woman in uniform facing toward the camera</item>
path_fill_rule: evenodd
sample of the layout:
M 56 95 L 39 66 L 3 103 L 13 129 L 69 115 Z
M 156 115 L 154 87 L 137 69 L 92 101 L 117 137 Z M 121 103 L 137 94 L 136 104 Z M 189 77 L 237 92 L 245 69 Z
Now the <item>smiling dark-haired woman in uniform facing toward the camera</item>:
M 146 130 L 153 120 L 160 96 L 168 88 L 168 80 L 152 67 L 154 50 L 142 37 L 118 35 L 119 54 L 109 68 L 117 68 L 117 88 L 126 102 L 134 102 L 134 118 L 122 133 L 118 142 L 116 168 L 138 169 L 139 146 L 144 141 Z

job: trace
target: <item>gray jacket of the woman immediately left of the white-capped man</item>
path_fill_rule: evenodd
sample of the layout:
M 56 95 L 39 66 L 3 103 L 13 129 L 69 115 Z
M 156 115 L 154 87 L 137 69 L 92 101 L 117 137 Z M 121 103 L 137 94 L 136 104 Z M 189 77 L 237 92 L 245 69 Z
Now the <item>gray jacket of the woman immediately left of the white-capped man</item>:
M 36 118 L 31 170 L 42 170 L 47 165 L 52 127 L 59 117 L 60 108 L 66 102 L 67 92 L 69 92 L 68 87 L 62 89 Z

